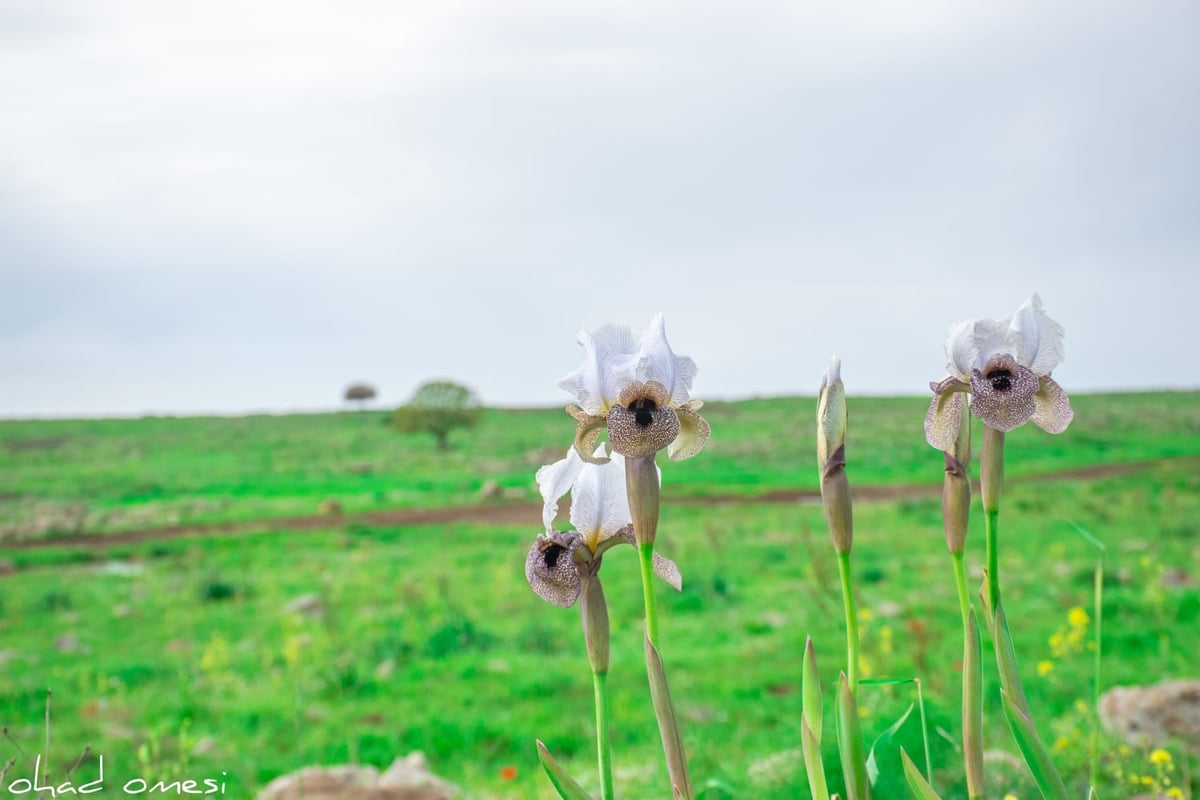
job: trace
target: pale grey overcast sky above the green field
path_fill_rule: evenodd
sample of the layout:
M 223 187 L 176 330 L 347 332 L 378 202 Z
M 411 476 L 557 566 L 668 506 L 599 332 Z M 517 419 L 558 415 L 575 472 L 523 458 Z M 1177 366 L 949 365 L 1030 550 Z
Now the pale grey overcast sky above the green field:
M 1200 4 L 0 0 L 0 415 L 923 393 L 1032 291 L 1198 387 Z

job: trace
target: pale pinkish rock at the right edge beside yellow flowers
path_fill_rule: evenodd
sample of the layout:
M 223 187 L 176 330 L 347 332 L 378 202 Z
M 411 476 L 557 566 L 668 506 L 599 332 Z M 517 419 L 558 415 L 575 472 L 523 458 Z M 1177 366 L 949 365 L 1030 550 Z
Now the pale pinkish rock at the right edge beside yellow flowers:
M 1200 753 L 1200 680 L 1110 688 L 1100 696 L 1100 720 L 1132 744 L 1181 741 Z

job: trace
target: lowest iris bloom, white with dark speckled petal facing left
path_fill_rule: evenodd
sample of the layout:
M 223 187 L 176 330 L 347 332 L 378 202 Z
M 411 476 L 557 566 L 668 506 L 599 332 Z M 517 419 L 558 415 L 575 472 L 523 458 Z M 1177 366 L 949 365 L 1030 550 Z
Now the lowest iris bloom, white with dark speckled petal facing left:
M 595 455 L 602 453 L 601 445 Z M 625 493 L 625 459 L 614 453 L 604 464 L 586 463 L 571 447 L 566 458 L 538 470 L 538 488 L 546 533 L 529 548 L 526 579 L 542 600 L 570 607 L 578 600 L 581 576 L 596 575 L 610 547 L 635 543 Z M 558 500 L 568 492 L 575 530 L 556 531 Z M 676 589 L 683 585 L 679 569 L 656 552 L 654 572 Z

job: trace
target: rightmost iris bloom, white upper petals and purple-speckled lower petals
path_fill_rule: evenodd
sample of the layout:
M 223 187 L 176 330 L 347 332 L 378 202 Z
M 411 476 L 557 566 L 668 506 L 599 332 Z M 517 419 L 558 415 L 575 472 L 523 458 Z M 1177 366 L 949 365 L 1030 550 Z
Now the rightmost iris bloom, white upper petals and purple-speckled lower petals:
M 1050 378 L 1062 361 L 1062 325 L 1046 315 L 1037 295 L 1007 319 L 977 319 L 952 327 L 946 341 L 950 374 L 930 384 L 929 444 L 954 450 L 964 405 L 956 392 L 970 392 L 971 411 L 996 431 L 1012 431 L 1030 420 L 1050 433 L 1066 431 L 1074 411 L 1067 392 Z

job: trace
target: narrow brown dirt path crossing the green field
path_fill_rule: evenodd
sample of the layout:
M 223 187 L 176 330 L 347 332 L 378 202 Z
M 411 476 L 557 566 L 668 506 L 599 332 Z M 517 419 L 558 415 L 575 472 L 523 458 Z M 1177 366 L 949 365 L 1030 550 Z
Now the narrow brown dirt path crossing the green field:
M 1169 459 L 1175 463 L 1200 462 L 1194 457 Z M 1037 476 L 1013 477 L 1014 483 L 1038 481 L 1084 481 L 1116 475 L 1127 475 L 1151 467 L 1163 461 L 1128 462 L 1123 464 L 1099 464 L 1080 469 L 1062 470 Z M 856 500 L 908 500 L 917 498 L 941 497 L 941 483 L 920 486 L 856 486 L 852 488 Z M 979 491 L 976 483 L 974 491 Z M 821 493 L 812 489 L 778 489 L 757 495 L 713 494 L 703 498 L 676 498 L 665 500 L 666 505 L 732 505 L 737 503 L 820 503 Z M 306 531 L 330 530 L 346 525 L 370 527 L 409 527 L 436 525 L 446 523 L 492 523 L 528 525 L 532 529 L 541 524 L 541 506 L 532 503 L 480 503 L 470 506 L 451 506 L 445 509 L 392 509 L 355 515 L 308 515 L 304 517 L 272 517 L 269 519 L 250 519 L 240 522 L 220 522 L 193 525 L 172 525 L 167 528 L 146 528 L 112 534 L 72 534 L 52 539 L 0 542 L 0 549 L 30 549 L 37 547 L 108 547 L 112 545 L 132 545 L 138 542 L 181 539 L 186 536 L 242 535 L 260 534 L 271 530 Z

